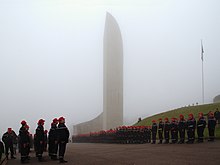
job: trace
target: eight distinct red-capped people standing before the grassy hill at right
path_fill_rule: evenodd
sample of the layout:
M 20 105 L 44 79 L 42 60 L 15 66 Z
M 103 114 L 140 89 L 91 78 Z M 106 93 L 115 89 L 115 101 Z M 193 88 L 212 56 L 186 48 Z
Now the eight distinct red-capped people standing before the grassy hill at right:
M 202 143 L 204 141 L 204 130 L 207 126 L 207 121 L 202 112 L 198 114 L 198 120 L 196 121 L 193 114 L 188 115 L 188 119 L 185 120 L 183 115 L 179 116 L 179 120 L 176 118 L 172 118 L 171 122 L 169 122 L 168 118 L 159 119 L 159 123 L 157 124 L 155 120 L 152 121 L 152 143 L 156 143 L 156 134 L 158 133 L 159 144 L 163 142 L 167 144 L 170 141 L 171 134 L 171 143 L 185 143 L 185 133 L 187 132 L 187 141 L 186 143 L 191 144 L 195 142 L 195 133 L 197 132 L 198 143 Z M 214 141 L 215 139 L 215 127 L 216 127 L 216 119 L 214 118 L 214 114 L 209 112 L 208 114 L 208 132 L 209 139 L 208 141 Z M 163 138 L 164 135 L 164 138 Z M 179 141 L 178 141 L 179 140 Z

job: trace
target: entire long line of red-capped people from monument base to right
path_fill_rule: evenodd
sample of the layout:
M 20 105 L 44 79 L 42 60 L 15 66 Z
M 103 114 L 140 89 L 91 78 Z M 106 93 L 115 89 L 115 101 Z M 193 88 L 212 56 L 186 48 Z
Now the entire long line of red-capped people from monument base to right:
M 185 134 L 187 132 L 187 143 L 194 143 L 195 131 L 197 130 L 198 142 L 203 142 L 204 129 L 206 120 L 202 113 L 199 113 L 196 122 L 193 114 L 189 114 L 187 120 L 180 115 L 179 120 L 172 118 L 169 122 L 168 118 L 159 119 L 157 123 L 152 121 L 152 126 L 120 126 L 114 130 L 91 132 L 88 134 L 80 134 L 72 137 L 73 142 L 80 143 L 156 143 L 158 135 L 159 144 L 161 143 L 185 143 Z M 209 113 L 208 130 L 209 141 L 214 141 L 216 120 L 213 113 Z M 170 138 L 171 135 L 171 138 Z M 171 140 L 171 141 L 170 141 Z

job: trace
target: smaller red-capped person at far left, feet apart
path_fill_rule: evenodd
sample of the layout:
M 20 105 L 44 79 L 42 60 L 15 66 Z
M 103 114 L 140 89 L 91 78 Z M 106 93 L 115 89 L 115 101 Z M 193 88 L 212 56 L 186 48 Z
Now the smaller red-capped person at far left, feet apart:
M 14 150 L 13 150 L 13 134 L 12 129 L 8 128 L 8 131 L 3 134 L 2 141 L 5 144 L 5 156 L 8 159 L 8 151 L 10 150 L 11 159 L 15 159 L 14 157 Z

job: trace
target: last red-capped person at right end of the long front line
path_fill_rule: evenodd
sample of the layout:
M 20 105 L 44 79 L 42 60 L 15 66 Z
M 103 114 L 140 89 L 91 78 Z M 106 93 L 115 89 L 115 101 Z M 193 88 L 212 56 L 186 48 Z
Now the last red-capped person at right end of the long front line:
M 213 142 L 215 139 L 215 126 L 216 120 L 213 112 L 209 112 L 208 114 L 208 130 L 209 130 L 209 139 L 208 141 Z

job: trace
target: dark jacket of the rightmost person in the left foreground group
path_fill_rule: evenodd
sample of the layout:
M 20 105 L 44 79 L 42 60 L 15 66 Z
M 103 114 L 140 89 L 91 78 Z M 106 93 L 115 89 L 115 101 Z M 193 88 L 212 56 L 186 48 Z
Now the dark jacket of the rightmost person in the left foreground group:
M 65 124 L 62 123 L 58 125 L 57 135 L 58 135 L 59 142 L 65 141 L 66 143 L 68 143 L 70 133 Z

